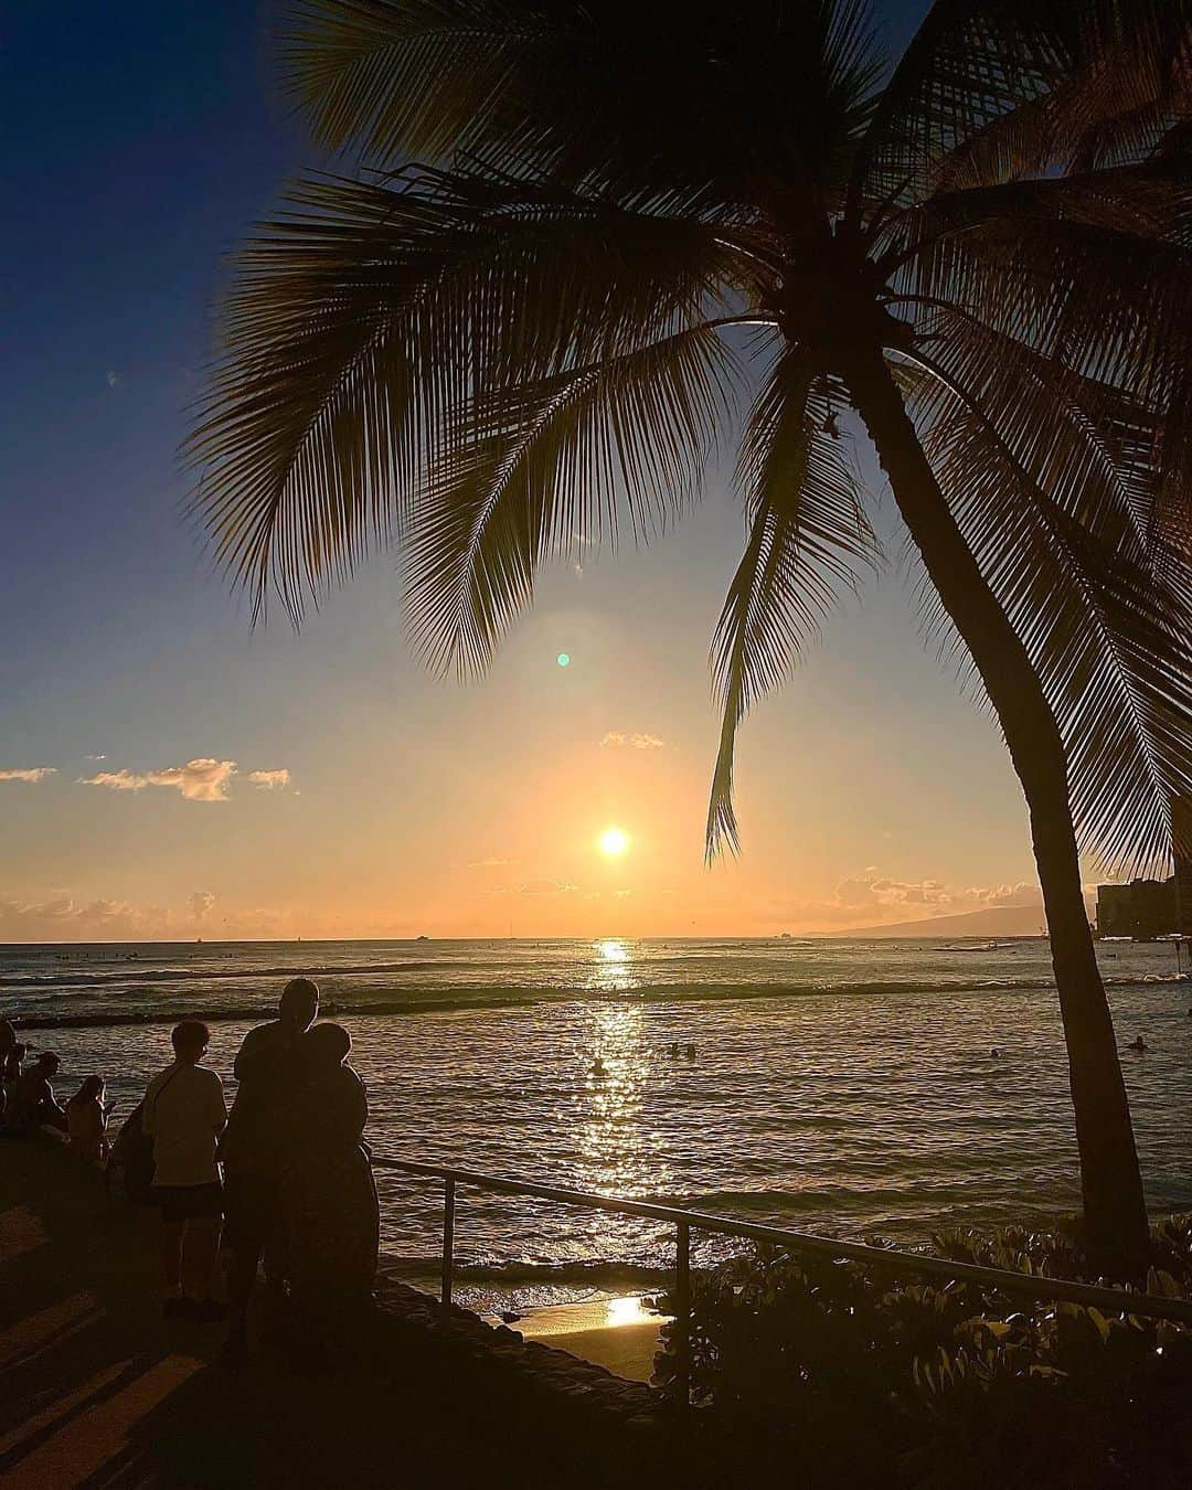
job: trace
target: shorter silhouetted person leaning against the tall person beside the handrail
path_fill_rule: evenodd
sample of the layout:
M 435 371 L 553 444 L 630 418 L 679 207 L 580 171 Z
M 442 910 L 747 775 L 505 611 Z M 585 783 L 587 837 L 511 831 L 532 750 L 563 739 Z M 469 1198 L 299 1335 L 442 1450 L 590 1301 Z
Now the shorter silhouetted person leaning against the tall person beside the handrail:
M 378 1213 L 362 1144 L 364 1082 L 347 1064 L 352 1037 L 319 1024 L 302 1039 L 285 1177 L 288 1264 L 295 1308 L 310 1345 L 352 1332 L 377 1271 Z

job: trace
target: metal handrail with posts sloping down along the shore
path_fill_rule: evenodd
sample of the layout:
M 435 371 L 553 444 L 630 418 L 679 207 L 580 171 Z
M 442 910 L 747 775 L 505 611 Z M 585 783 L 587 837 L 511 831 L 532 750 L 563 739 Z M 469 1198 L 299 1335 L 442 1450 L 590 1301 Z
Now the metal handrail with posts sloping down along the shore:
M 1092 1283 L 1071 1283 L 1067 1278 L 1047 1278 L 1030 1272 L 1009 1272 L 1004 1268 L 985 1268 L 976 1262 L 951 1262 L 948 1258 L 933 1258 L 918 1252 L 900 1252 L 894 1247 L 870 1247 L 861 1241 L 839 1241 L 834 1237 L 820 1237 L 814 1232 L 788 1231 L 784 1226 L 761 1226 L 755 1222 L 735 1220 L 730 1216 L 714 1216 L 708 1211 L 682 1210 L 676 1205 L 656 1205 L 653 1201 L 632 1201 L 621 1195 L 599 1195 L 595 1191 L 572 1191 L 559 1185 L 542 1185 L 538 1180 L 511 1180 L 496 1174 L 478 1174 L 474 1170 L 454 1170 L 440 1164 L 420 1164 L 414 1159 L 387 1159 L 372 1156 L 372 1167 L 396 1170 L 425 1179 L 443 1180 L 443 1293 L 444 1316 L 451 1308 L 451 1280 L 454 1272 L 454 1219 L 456 1191 L 471 1185 L 481 1191 L 496 1191 L 501 1195 L 532 1195 L 538 1199 L 556 1201 L 560 1205 L 578 1205 L 589 1210 L 614 1211 L 621 1216 L 648 1216 L 675 1226 L 675 1319 L 679 1326 L 676 1351 L 676 1387 L 679 1399 L 688 1395 L 690 1378 L 690 1272 L 691 1231 L 708 1231 L 721 1237 L 744 1237 L 749 1241 L 766 1241 L 785 1247 L 793 1253 L 814 1253 L 821 1258 L 863 1262 L 890 1272 L 916 1272 L 927 1278 L 942 1278 L 948 1283 L 976 1283 L 995 1287 L 1003 1293 L 1018 1293 L 1036 1302 L 1059 1301 L 1083 1304 L 1100 1310 L 1125 1310 L 1143 1319 L 1167 1319 L 1192 1325 L 1192 1299 L 1156 1298 L 1153 1293 L 1132 1293 L 1126 1289 L 1107 1289 Z

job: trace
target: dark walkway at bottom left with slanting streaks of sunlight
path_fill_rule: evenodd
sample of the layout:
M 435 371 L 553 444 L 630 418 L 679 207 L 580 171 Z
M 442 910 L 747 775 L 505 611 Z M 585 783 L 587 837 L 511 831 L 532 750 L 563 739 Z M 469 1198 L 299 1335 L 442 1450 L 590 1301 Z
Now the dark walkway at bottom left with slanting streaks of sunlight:
M 319 1375 L 258 1345 L 228 1374 L 221 1342 L 161 1319 L 152 1217 L 57 1146 L 0 1140 L 4 1490 L 626 1483 L 541 1413 L 460 1401 L 432 1354 Z

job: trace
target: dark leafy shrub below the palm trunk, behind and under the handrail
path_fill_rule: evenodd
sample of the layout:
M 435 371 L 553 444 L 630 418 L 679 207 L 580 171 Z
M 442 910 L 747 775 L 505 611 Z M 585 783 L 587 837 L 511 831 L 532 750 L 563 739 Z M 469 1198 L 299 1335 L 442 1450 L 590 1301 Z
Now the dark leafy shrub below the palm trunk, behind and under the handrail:
M 1062 1232 L 954 1231 L 931 1250 L 1098 1281 Z M 1155 1228 L 1147 1292 L 1192 1298 L 1192 1216 Z M 758 1472 L 922 1490 L 1192 1484 L 1192 1329 L 1125 1304 L 1024 1305 L 758 1247 L 693 1274 L 690 1340 L 693 1401 Z M 668 1323 L 662 1386 L 673 1387 L 676 1344 Z

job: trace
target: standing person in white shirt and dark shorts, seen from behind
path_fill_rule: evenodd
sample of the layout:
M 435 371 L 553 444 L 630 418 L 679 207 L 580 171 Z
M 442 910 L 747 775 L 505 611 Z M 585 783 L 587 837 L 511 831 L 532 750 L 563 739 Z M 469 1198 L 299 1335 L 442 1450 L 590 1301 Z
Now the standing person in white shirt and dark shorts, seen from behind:
M 170 1036 L 173 1062 L 145 1094 L 142 1128 L 153 1141 L 152 1193 L 161 1207 L 167 1319 L 216 1320 L 225 1314 L 212 1298 L 212 1274 L 224 1220 L 216 1144 L 228 1109 L 224 1083 L 198 1064 L 210 1039 L 198 1019 L 183 1019 Z

